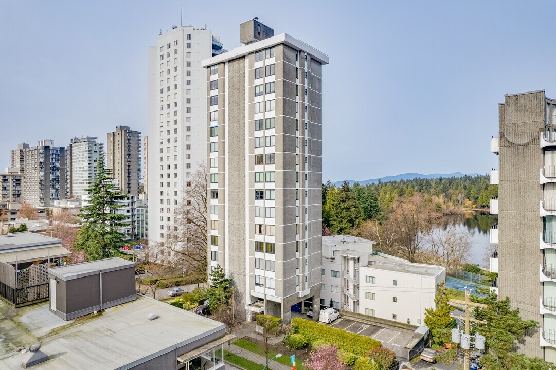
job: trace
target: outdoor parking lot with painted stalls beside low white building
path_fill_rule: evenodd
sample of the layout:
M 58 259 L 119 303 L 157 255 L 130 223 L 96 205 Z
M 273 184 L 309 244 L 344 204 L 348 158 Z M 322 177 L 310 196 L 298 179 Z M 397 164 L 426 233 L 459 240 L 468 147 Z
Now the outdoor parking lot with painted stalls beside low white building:
M 409 331 L 400 331 L 395 328 L 385 328 L 347 318 L 339 318 L 329 325 L 334 328 L 343 329 L 351 333 L 357 333 L 376 339 L 377 341 L 380 341 L 384 347 L 396 353 L 398 353 L 401 348 L 404 348 L 413 337 L 413 333 Z

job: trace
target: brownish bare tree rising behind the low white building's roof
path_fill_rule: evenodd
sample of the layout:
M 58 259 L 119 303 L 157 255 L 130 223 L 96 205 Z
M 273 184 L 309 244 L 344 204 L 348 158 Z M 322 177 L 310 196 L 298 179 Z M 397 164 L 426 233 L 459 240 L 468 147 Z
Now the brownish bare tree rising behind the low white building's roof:
M 396 199 L 390 210 L 388 222 L 391 223 L 391 231 L 395 234 L 400 257 L 416 262 L 418 254 L 425 248 L 424 240 L 438 216 L 432 203 L 419 193 L 410 198 Z

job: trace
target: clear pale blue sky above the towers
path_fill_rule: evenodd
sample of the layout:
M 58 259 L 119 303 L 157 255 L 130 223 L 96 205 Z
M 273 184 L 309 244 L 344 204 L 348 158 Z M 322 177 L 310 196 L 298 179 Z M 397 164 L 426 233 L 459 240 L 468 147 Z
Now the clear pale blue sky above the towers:
M 0 2 L 0 171 L 18 143 L 147 133 L 147 47 L 172 24 L 239 46 L 252 17 L 325 52 L 323 179 L 497 167 L 505 93 L 556 98 L 554 3 Z

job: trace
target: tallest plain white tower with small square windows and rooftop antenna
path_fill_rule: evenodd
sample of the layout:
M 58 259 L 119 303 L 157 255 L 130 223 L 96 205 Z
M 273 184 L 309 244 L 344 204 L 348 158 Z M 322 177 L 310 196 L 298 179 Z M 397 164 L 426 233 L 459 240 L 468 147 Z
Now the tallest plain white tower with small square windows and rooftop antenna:
M 198 164 L 206 163 L 206 70 L 222 52 L 211 31 L 176 27 L 148 49 L 148 223 L 150 243 L 171 237 L 175 212 Z M 170 251 L 167 251 L 170 257 Z

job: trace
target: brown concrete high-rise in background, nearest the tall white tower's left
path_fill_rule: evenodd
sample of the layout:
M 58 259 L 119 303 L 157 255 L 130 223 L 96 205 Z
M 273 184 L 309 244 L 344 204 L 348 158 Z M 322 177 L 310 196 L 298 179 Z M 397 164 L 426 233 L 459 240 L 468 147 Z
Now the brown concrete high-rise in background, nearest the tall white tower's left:
M 108 132 L 106 167 L 118 181 L 122 194 L 139 194 L 141 179 L 141 131 L 117 126 Z

